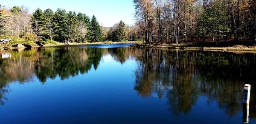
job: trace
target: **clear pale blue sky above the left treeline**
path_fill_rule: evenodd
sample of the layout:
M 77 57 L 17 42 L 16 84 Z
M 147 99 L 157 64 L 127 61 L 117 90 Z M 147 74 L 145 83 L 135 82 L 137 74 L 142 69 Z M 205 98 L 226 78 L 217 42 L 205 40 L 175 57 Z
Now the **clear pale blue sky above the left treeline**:
M 36 8 L 51 8 L 52 11 L 62 8 L 87 14 L 90 18 L 94 14 L 99 23 L 106 27 L 120 20 L 129 25 L 134 24 L 133 0 L 0 0 L 0 4 L 6 8 L 24 5 L 29 8 L 29 13 Z

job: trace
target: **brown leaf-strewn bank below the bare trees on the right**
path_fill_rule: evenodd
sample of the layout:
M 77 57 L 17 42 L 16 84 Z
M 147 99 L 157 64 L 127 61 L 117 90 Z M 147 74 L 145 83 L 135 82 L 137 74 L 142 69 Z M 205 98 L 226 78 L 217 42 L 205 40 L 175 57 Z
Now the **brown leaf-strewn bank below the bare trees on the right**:
M 216 46 L 204 46 L 195 45 L 188 43 L 140 43 L 131 45 L 137 48 L 156 48 L 156 49 L 167 49 L 167 50 L 186 50 L 186 51 L 218 51 L 218 52 L 233 52 L 233 53 L 253 53 L 256 54 L 256 45 L 230 45 L 227 47 L 216 47 Z

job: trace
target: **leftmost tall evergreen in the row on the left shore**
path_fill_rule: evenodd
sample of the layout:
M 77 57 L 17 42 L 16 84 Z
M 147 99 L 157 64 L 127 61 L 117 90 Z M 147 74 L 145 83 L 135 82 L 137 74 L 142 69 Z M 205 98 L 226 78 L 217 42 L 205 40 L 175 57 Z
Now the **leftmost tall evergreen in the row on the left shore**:
M 32 14 L 32 28 L 36 34 L 36 40 L 45 40 L 45 34 L 47 34 L 47 27 L 45 25 L 46 19 L 44 13 L 40 8 L 36 9 Z

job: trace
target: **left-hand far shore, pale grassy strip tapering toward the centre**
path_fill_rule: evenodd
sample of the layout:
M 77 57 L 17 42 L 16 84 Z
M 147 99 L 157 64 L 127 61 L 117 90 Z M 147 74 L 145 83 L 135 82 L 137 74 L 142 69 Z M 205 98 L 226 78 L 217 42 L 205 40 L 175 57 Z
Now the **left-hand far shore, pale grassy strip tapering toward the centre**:
M 0 44 L 0 51 L 2 50 L 15 50 L 15 49 L 20 49 L 20 48 L 36 48 L 36 47 L 51 47 L 51 46 L 64 46 L 64 45 L 96 45 L 96 44 L 121 44 L 121 43 L 142 43 L 140 41 L 127 41 L 127 42 L 112 42 L 112 41 L 105 41 L 105 42 L 82 42 L 82 43 L 78 43 L 78 42 L 71 42 L 68 44 L 65 44 L 63 42 L 57 42 L 55 44 L 52 43 L 48 43 L 45 45 L 33 45 L 33 46 L 29 46 L 26 47 L 24 45 L 17 45 L 17 46 L 11 46 L 8 44 Z

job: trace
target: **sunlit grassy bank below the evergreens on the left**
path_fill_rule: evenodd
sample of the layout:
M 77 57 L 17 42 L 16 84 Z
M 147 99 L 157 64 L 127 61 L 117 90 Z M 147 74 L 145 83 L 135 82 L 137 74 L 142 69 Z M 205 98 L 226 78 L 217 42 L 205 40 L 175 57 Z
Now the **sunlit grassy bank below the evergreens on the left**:
M 63 42 L 56 41 L 44 41 L 38 42 L 34 44 L 23 44 L 18 42 L 8 42 L 8 43 L 0 43 L 0 50 L 13 50 L 17 48 L 31 48 L 31 47 L 49 47 L 49 46 L 61 46 L 61 45 L 93 45 L 93 44 L 118 44 L 118 43 L 142 43 L 140 41 L 125 41 L 125 42 L 112 42 L 112 41 L 104 41 L 104 42 L 71 42 L 65 44 Z

